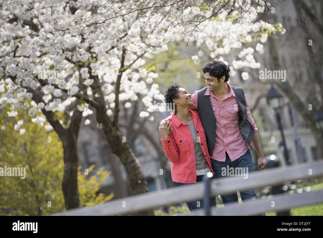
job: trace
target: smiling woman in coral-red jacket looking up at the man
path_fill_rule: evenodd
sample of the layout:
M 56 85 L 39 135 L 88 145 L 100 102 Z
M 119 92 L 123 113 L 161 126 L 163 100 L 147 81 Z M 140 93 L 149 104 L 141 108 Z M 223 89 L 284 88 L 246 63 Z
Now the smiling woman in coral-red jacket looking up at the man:
M 214 173 L 200 117 L 196 110 L 190 109 L 193 106 L 191 96 L 177 83 L 169 86 L 164 96 L 170 109 L 175 109 L 159 126 L 165 155 L 172 162 L 175 186 L 200 182 L 204 174 Z M 169 135 L 170 125 L 173 131 Z M 203 207 L 203 201 L 187 202 L 187 205 L 191 211 Z

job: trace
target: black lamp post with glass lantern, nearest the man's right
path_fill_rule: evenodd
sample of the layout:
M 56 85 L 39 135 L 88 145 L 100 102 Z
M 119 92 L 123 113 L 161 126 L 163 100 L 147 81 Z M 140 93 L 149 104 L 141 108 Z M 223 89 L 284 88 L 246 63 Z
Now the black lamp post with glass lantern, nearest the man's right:
M 267 103 L 275 111 L 276 120 L 277 120 L 279 129 L 281 132 L 281 136 L 283 139 L 286 165 L 290 165 L 291 160 L 289 159 L 289 156 L 288 156 L 288 151 L 287 151 L 286 142 L 285 142 L 285 136 L 284 136 L 284 132 L 283 132 L 283 126 L 282 126 L 281 118 L 280 118 L 280 113 L 283 108 L 283 97 L 282 97 L 282 95 L 279 94 L 279 92 L 274 88 L 273 85 L 271 85 L 271 89 L 269 90 L 269 92 L 267 94 Z

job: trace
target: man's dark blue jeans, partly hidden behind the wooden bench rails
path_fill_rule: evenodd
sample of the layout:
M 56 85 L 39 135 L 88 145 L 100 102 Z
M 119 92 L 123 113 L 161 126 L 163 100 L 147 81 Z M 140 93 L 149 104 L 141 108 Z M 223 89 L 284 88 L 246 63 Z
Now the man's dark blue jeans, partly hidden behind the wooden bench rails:
M 249 175 L 249 173 L 253 173 L 255 171 L 254 162 L 252 160 L 250 149 L 248 149 L 244 155 L 235 159 L 234 161 L 231 161 L 228 153 L 225 152 L 225 161 L 224 162 L 217 161 L 215 159 L 211 159 L 211 164 L 212 164 L 212 169 L 215 173 L 215 178 L 222 178 L 222 177 L 227 176 L 227 168 L 228 168 L 227 166 L 229 166 L 229 168 L 248 169 L 248 175 Z M 234 176 L 239 176 L 239 175 L 243 176 L 242 171 L 239 174 L 235 174 L 235 172 L 236 171 L 234 169 Z M 223 173 L 223 175 L 222 175 L 222 173 Z M 255 189 L 240 191 L 240 196 L 241 196 L 241 200 L 249 200 L 249 199 L 255 200 L 255 199 L 257 199 Z M 237 193 L 221 195 L 221 199 L 223 201 L 223 204 L 237 202 L 238 195 L 237 195 Z M 265 214 L 262 214 L 262 215 L 265 216 Z

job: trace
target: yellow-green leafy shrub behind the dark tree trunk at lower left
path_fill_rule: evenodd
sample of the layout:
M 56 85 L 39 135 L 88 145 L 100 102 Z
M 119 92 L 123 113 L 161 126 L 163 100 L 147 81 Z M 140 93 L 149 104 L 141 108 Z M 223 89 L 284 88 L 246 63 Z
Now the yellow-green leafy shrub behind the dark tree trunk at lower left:
M 0 215 L 45 215 L 65 211 L 63 146 L 57 133 L 47 132 L 44 127 L 32 123 L 27 110 L 19 109 L 16 110 L 16 117 L 5 117 L 8 110 L 10 108 L 5 107 L 0 112 L 0 127 L 6 127 L 0 130 L 0 167 L 26 167 L 26 178 L 0 177 Z M 20 126 L 26 130 L 24 135 L 14 130 L 18 120 L 24 121 Z M 93 168 L 91 166 L 89 172 Z M 109 177 L 107 171 L 99 169 L 89 178 L 80 170 L 79 167 L 81 206 L 102 203 L 113 197 L 113 193 L 109 196 L 103 193 L 96 195 L 99 186 Z

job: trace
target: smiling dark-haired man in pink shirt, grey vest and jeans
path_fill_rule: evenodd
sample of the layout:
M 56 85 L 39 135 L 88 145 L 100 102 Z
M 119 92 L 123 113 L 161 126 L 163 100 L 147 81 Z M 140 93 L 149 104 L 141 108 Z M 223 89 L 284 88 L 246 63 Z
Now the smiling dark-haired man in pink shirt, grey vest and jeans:
M 200 115 L 215 178 L 254 172 L 249 146 L 254 146 L 258 154 L 258 169 L 264 169 L 266 161 L 246 95 L 242 88 L 227 83 L 229 66 L 212 60 L 203 67 L 203 73 L 206 87 L 193 93 L 191 109 L 197 109 Z M 240 195 L 242 200 L 257 198 L 255 189 L 240 191 Z M 236 193 L 221 198 L 224 204 L 238 201 Z

